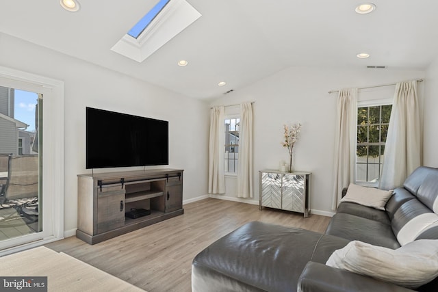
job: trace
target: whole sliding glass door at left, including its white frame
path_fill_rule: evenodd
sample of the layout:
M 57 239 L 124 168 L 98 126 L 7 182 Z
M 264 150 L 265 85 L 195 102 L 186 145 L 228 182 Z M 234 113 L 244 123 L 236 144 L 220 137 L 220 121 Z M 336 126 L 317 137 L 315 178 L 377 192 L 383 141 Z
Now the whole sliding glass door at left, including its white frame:
M 64 237 L 64 82 L 0 66 L 0 92 L 3 256 Z

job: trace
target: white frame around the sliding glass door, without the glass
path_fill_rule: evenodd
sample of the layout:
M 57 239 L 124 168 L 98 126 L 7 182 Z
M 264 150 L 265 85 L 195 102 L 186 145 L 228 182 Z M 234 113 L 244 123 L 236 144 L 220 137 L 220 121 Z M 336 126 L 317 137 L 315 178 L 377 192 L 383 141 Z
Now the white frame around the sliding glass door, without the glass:
M 0 85 L 42 94 L 42 232 L 0 241 L 0 256 L 64 238 L 64 82 L 0 66 Z

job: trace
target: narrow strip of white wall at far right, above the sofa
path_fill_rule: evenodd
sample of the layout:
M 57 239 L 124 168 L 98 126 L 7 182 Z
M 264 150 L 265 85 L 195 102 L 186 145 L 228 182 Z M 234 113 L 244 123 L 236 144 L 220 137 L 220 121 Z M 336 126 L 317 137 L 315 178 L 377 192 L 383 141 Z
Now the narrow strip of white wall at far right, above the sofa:
M 438 168 L 438 58 L 426 71 L 424 90 L 424 165 Z

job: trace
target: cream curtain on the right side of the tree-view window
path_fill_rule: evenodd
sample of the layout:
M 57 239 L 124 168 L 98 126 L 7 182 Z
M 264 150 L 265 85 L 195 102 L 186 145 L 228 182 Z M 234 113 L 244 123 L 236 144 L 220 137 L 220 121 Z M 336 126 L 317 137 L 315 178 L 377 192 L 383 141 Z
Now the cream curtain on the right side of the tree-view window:
M 417 81 L 396 84 L 389 119 L 380 189 L 394 189 L 421 165 L 420 105 Z

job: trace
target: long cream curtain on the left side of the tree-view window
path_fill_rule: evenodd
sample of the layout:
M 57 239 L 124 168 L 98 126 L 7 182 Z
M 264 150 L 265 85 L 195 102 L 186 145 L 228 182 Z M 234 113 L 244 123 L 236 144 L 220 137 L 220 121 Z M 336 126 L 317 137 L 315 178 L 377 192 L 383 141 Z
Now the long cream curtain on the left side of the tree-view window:
M 339 90 L 337 96 L 334 185 L 332 209 L 342 198 L 342 189 L 355 180 L 357 135 L 357 88 Z

